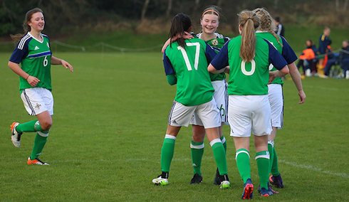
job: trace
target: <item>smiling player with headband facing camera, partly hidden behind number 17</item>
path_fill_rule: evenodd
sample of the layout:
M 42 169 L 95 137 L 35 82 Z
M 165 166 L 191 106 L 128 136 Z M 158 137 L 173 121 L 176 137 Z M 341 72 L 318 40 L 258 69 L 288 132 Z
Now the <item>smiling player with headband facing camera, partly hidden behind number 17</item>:
M 206 9 L 204 9 L 204 11 L 202 11 L 202 14 L 200 16 L 202 32 L 196 34 L 197 38 L 203 39 L 207 42 L 207 44 L 209 44 L 209 46 L 214 48 L 216 53 L 218 53 L 219 50 L 221 50 L 221 48 L 224 46 L 224 43 L 229 41 L 228 37 L 224 37 L 222 36 L 222 34 L 216 32 L 221 18 L 219 10 L 221 9 L 219 9 L 219 7 L 217 6 L 209 6 Z M 192 38 L 192 35 L 189 35 L 189 33 L 187 33 L 187 35 L 184 34 L 183 36 L 184 38 Z M 175 38 L 177 38 L 177 36 L 172 38 L 172 40 L 174 40 Z M 165 51 L 165 48 L 167 48 L 169 44 L 170 39 L 163 46 L 162 53 Z M 221 126 L 219 126 L 219 138 L 221 139 L 224 149 L 226 151 L 226 139 L 223 136 L 222 132 L 223 124 L 228 124 L 228 95 L 226 90 L 226 75 L 224 72 L 219 74 L 210 73 L 209 75 L 212 81 L 212 85 L 214 87 L 214 100 L 216 100 L 217 107 L 220 111 L 220 115 L 222 118 L 222 124 Z M 201 163 L 202 156 L 204 154 L 205 129 L 201 119 L 197 116 L 196 113 L 194 113 L 194 117 L 190 124 L 192 124 L 193 129 L 193 137 L 192 142 L 190 144 L 190 149 L 192 153 L 192 165 L 194 169 L 194 176 L 192 177 L 190 184 L 199 184 L 202 182 Z M 214 179 L 214 184 L 221 184 L 221 181 L 219 181 L 218 168 L 216 172 L 216 177 Z

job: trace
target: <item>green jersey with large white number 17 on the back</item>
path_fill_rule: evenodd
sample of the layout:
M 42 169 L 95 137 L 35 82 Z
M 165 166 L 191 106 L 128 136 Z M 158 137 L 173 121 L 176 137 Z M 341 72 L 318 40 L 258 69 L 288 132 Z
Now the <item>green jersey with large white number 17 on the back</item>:
M 175 73 L 177 77 L 177 102 L 185 106 L 201 105 L 212 100 L 214 88 L 207 66 L 216 53 L 202 39 L 192 38 L 185 42 L 185 48 L 177 42 L 167 46 L 165 72 L 166 75 Z

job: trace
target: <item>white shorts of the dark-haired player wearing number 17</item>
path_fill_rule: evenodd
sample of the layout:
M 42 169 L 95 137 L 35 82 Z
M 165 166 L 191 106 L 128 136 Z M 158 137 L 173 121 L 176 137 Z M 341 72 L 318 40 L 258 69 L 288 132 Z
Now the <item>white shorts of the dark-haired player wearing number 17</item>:
M 219 127 L 221 125 L 221 117 L 219 116 L 219 110 L 214 97 L 209 102 L 195 106 L 184 106 L 180 102 L 173 101 L 167 123 L 175 127 L 188 127 L 194 112 L 199 117 L 205 129 Z

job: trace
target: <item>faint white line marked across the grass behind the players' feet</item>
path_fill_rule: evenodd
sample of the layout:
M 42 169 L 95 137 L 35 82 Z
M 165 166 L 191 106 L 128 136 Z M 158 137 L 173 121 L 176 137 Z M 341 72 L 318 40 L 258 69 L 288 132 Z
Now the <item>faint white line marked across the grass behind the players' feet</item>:
M 212 160 L 214 159 L 213 157 L 203 157 L 202 160 Z M 227 160 L 233 160 L 233 158 L 227 158 Z M 72 159 L 72 160 L 66 160 L 66 161 L 50 161 L 49 164 L 56 164 L 56 163 L 68 163 L 68 162 L 108 162 L 108 161 L 125 161 L 124 159 L 98 159 L 98 160 L 88 160 L 88 159 Z M 126 161 L 150 161 L 149 159 L 126 159 Z M 160 160 L 158 160 L 160 161 Z M 192 159 L 190 158 L 173 158 L 172 161 L 192 161 Z M 335 176 L 340 176 L 340 177 L 344 177 L 349 179 L 349 174 L 342 174 L 342 173 L 334 173 L 332 171 L 326 171 L 314 166 L 306 166 L 303 164 L 297 164 L 295 162 L 289 162 L 289 161 L 285 161 L 283 159 L 278 159 L 278 162 L 283 163 L 283 164 L 288 164 L 290 166 L 294 166 L 300 169 L 308 169 L 308 170 L 312 170 L 312 171 L 318 171 L 318 172 L 322 172 L 324 174 L 330 174 L 330 175 L 335 175 Z M 22 163 L 26 163 L 26 161 L 11 161 L 10 164 L 22 164 Z M 52 166 L 52 165 L 51 165 Z

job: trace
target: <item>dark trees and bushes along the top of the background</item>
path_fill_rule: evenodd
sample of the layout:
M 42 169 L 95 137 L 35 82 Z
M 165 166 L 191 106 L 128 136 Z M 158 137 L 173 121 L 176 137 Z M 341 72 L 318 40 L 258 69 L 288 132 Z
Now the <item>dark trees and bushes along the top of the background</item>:
M 170 21 L 177 13 L 199 18 L 209 5 L 222 8 L 225 23 L 236 24 L 239 11 L 264 7 L 286 23 L 347 25 L 349 0 L 0 0 L 0 35 L 21 33 L 26 11 L 39 7 L 46 20 L 46 33 L 68 34 L 105 21 Z

